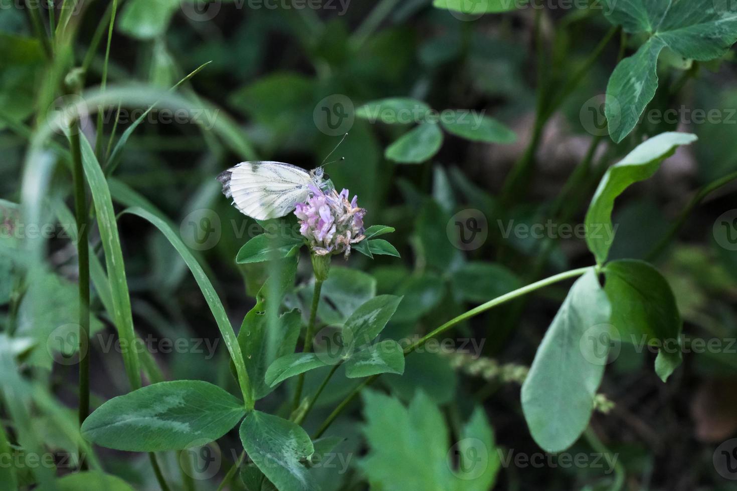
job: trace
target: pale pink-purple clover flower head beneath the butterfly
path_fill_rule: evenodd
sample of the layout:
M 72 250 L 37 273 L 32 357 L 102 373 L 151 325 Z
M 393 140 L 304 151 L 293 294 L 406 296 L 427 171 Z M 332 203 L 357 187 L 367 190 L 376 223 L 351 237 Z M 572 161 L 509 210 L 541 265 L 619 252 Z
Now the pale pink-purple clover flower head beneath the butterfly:
M 307 202 L 297 203 L 294 214 L 299 219 L 299 232 L 310 241 L 316 255 L 351 253 L 351 244 L 366 239 L 363 235 L 363 216 L 366 210 L 358 208 L 358 197 L 348 200 L 348 190 L 324 193 L 310 186 Z

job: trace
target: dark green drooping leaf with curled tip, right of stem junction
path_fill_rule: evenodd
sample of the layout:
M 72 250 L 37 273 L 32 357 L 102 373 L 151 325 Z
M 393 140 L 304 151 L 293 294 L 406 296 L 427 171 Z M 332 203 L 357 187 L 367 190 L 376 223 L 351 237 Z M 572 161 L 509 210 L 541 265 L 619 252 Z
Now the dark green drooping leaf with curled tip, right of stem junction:
M 665 382 L 680 365 L 681 316 L 666 278 L 644 261 L 612 261 L 604 267 L 612 303 L 612 325 L 621 341 L 661 346 L 655 361 Z

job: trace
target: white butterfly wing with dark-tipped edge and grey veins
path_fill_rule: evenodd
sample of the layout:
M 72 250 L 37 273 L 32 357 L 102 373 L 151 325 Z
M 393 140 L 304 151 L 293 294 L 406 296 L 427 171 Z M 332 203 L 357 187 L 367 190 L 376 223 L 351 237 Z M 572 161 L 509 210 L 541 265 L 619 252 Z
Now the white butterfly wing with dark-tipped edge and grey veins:
M 242 162 L 217 177 L 223 194 L 241 213 L 257 220 L 278 218 L 307 199 L 310 174 L 283 162 Z

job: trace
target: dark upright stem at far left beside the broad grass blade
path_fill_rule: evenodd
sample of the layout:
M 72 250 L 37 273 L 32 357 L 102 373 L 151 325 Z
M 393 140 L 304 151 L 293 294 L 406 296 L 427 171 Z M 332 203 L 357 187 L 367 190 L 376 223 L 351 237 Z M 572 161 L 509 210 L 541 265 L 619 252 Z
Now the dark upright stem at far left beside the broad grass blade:
M 71 146 L 71 174 L 74 181 L 74 212 L 77 222 L 77 258 L 79 269 L 79 353 L 80 353 L 80 426 L 89 414 L 90 409 L 90 261 L 87 223 L 87 196 L 85 194 L 85 177 L 82 169 L 82 151 L 80 149 L 80 123 L 75 119 L 71 124 L 69 145 Z

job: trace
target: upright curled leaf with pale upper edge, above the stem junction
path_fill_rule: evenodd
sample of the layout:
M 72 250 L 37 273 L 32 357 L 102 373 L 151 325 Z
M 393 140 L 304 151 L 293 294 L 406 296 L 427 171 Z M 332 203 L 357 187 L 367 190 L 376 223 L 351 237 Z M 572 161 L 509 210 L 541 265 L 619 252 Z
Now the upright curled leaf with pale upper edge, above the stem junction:
M 678 146 L 691 144 L 697 139 L 690 133 L 662 133 L 638 145 L 623 160 L 609 167 L 596 188 L 585 221 L 586 244 L 598 264 L 607 261 L 609 247 L 612 246 L 615 199 L 633 183 L 651 177 Z

